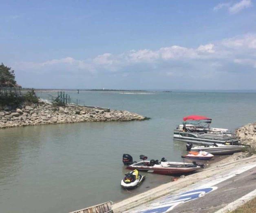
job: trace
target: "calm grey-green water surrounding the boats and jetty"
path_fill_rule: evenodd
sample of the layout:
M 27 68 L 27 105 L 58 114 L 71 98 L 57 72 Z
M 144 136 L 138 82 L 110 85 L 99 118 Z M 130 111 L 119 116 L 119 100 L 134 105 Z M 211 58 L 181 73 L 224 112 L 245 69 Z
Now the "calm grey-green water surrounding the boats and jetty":
M 256 93 L 68 93 L 87 105 L 125 109 L 151 120 L 0 130 L 0 212 L 74 211 L 170 181 L 170 176 L 146 174 L 141 187 L 122 190 L 127 172 L 122 154 L 181 161 L 185 146 L 173 143 L 172 130 L 185 115 L 206 115 L 213 127 L 231 130 L 256 121 Z

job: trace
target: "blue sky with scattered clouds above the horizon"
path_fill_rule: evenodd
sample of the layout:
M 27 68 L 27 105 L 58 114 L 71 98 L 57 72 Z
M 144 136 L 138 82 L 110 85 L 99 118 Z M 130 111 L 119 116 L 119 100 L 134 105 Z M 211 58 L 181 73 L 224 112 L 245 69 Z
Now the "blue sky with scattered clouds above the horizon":
M 22 87 L 256 89 L 254 0 L 1 0 Z

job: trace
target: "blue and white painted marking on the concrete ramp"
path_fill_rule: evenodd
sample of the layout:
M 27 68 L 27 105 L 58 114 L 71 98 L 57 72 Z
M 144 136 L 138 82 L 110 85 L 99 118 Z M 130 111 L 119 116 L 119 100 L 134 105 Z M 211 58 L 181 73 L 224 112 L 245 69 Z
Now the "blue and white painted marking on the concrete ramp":
M 156 200 L 151 203 L 149 206 L 146 206 L 145 209 L 138 211 L 139 213 L 165 213 L 172 210 L 175 206 L 195 200 L 204 196 L 211 191 L 214 191 L 217 187 L 207 187 L 203 189 L 196 189 L 192 191 L 186 191 L 177 196 L 168 196 L 160 200 Z

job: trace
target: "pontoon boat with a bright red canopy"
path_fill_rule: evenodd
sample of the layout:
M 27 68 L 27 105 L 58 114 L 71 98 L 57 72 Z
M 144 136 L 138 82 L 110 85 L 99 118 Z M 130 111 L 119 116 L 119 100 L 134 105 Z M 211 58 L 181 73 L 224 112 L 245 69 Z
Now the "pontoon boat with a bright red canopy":
M 211 118 L 201 115 L 183 117 L 183 125 L 174 129 L 174 141 L 212 145 L 212 143 L 239 143 L 238 138 L 227 129 L 210 128 Z M 192 121 L 194 122 L 192 124 Z

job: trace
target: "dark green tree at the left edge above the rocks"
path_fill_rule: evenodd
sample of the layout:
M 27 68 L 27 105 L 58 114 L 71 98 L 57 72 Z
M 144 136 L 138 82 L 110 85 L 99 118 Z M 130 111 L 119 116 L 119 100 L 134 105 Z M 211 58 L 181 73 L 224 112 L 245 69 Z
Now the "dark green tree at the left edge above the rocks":
M 14 86 L 16 84 L 14 70 L 11 67 L 0 65 L 0 86 Z

